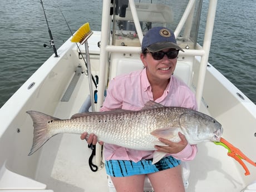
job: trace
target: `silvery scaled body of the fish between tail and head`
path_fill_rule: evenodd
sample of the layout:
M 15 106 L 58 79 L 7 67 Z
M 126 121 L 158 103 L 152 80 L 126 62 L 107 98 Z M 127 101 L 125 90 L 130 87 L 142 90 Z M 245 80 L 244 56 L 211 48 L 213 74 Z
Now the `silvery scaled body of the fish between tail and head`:
M 110 115 L 86 115 L 70 120 L 54 121 L 50 129 L 55 132 L 83 132 L 99 135 L 99 140 L 113 142 L 116 145 L 135 149 L 145 149 L 148 142 L 154 141 L 155 137 L 151 131 L 172 126 L 166 124 L 168 121 L 161 121 L 168 118 L 169 110 L 154 109 L 137 112 L 123 112 Z M 68 126 L 67 126 L 68 125 Z M 147 147 L 147 150 L 154 150 L 154 145 Z

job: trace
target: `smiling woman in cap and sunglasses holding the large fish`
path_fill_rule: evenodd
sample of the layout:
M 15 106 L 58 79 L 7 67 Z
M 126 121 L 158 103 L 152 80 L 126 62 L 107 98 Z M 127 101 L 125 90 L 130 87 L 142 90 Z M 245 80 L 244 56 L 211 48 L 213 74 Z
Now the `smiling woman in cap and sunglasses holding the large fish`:
M 144 36 L 141 49 L 140 58 L 144 70 L 111 80 L 101 111 L 138 111 L 147 101 L 196 110 L 194 93 L 184 82 L 173 76 L 178 53 L 183 51 L 176 45 L 174 33 L 168 28 L 154 27 Z M 81 139 L 86 136 L 85 132 Z M 180 161 L 194 159 L 196 145 L 188 144 L 180 132 L 180 142 L 171 142 L 161 138 L 161 135 L 157 137 L 165 146 L 156 145 L 156 151 L 104 145 L 106 172 L 111 176 L 117 192 L 143 191 L 145 175 L 155 191 L 185 191 Z M 91 134 L 87 142 L 96 144 L 97 136 Z M 155 158 L 161 159 L 155 163 Z

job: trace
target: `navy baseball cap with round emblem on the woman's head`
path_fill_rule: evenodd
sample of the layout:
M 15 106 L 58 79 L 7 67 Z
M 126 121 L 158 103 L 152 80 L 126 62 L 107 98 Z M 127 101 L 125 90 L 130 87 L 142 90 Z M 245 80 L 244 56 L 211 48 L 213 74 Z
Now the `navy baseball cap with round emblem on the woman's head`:
M 146 49 L 150 52 L 157 52 L 164 50 L 165 48 L 175 48 L 177 50 L 183 51 L 183 49 L 177 45 L 173 31 L 168 28 L 153 27 L 142 39 L 142 52 L 144 52 Z

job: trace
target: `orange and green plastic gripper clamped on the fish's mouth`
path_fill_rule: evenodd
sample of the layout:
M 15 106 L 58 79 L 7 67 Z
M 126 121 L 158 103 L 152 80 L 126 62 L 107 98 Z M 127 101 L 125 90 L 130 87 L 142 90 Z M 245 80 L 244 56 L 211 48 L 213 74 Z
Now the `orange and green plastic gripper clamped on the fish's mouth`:
M 248 163 L 252 164 L 253 166 L 256 166 L 255 162 L 250 160 L 247 156 L 245 156 L 243 154 L 242 151 L 240 151 L 237 147 L 235 147 L 234 145 L 230 144 L 227 140 L 223 139 L 222 137 L 220 138 L 219 142 L 214 142 L 214 144 L 221 145 L 221 146 L 225 147 L 228 150 L 228 156 L 233 157 L 235 160 L 238 161 L 238 163 L 240 165 L 243 166 L 243 168 L 245 170 L 244 175 L 250 175 L 250 171 L 248 170 L 247 166 L 244 164 L 242 159 L 247 161 Z

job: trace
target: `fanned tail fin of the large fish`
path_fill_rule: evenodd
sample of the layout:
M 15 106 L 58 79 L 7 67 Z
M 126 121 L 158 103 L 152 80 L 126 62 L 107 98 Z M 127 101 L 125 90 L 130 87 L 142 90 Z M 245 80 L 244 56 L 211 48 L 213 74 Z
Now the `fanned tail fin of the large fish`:
M 59 120 L 50 115 L 43 114 L 38 111 L 27 111 L 27 114 L 31 116 L 33 120 L 34 135 L 33 135 L 33 145 L 28 155 L 32 155 L 40 147 L 45 144 L 53 135 L 48 131 L 48 124 L 53 120 Z

